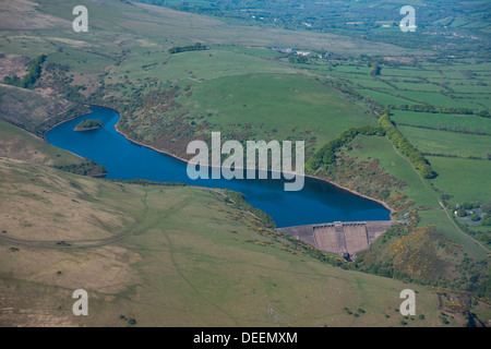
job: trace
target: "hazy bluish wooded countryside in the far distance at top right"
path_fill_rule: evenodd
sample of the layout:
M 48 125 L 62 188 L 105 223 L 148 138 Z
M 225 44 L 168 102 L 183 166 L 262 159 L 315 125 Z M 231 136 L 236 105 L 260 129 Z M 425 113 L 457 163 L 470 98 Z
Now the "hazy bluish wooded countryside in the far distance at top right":
M 261 26 L 342 33 L 407 48 L 436 48 L 447 53 L 489 50 L 491 3 L 469 0 L 275 1 L 275 0 L 141 0 L 179 11 L 243 21 Z M 403 5 L 416 11 L 418 29 L 402 35 Z

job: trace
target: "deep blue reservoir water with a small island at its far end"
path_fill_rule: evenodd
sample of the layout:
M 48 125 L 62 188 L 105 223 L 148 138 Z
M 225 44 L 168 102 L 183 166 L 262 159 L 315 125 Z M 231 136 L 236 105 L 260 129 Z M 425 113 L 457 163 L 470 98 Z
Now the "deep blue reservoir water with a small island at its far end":
M 91 109 L 91 113 L 47 132 L 46 140 L 60 148 L 104 165 L 108 179 L 140 178 L 226 188 L 244 194 L 248 203 L 266 212 L 278 227 L 390 219 L 390 212 L 379 203 L 311 178 L 306 178 L 303 189 L 298 192 L 284 191 L 283 180 L 191 180 L 188 178 L 185 163 L 134 144 L 119 134 L 115 129 L 119 115 L 115 110 L 103 107 Z M 73 131 L 84 119 L 99 119 L 104 127 L 86 132 Z

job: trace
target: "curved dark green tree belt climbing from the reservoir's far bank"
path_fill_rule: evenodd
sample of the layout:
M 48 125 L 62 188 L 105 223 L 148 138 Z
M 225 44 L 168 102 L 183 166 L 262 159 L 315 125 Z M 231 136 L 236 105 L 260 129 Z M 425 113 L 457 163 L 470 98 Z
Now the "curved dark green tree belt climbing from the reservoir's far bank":
M 358 134 L 363 135 L 385 135 L 385 131 L 381 127 L 362 127 L 362 128 L 349 128 L 343 131 L 334 140 L 324 144 L 314 155 L 312 155 L 306 164 L 308 171 L 314 172 L 320 167 L 325 167 L 334 164 L 336 160 L 336 153 L 339 149 L 351 142 Z

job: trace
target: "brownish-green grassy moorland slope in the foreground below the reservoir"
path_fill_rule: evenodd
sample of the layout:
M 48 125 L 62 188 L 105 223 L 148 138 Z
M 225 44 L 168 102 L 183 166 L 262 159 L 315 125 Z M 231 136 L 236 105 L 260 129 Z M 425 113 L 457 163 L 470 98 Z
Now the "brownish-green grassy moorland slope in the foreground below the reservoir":
M 404 320 L 396 310 L 407 285 L 294 254 L 219 192 L 113 183 L 7 158 L 0 172 L 3 326 L 128 326 L 120 315 L 136 326 L 440 326 L 447 311 L 414 285 L 424 320 Z M 79 288 L 89 316 L 71 314 Z M 448 325 L 465 321 L 447 314 Z

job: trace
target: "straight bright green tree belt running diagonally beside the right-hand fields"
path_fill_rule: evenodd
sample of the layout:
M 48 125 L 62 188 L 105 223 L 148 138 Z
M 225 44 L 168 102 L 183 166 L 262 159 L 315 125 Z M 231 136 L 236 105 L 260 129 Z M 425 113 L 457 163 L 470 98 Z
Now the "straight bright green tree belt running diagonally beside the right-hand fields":
M 424 158 L 422 153 L 410 144 L 400 131 L 395 128 L 388 115 L 384 113 L 380 117 L 379 123 L 385 130 L 385 134 L 391 140 L 392 144 L 409 158 L 409 161 L 423 178 L 431 179 L 436 177 L 436 172 L 433 171 L 430 163 Z

